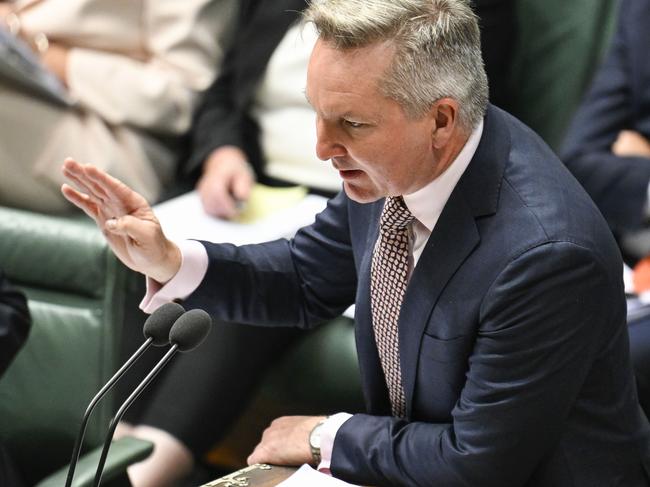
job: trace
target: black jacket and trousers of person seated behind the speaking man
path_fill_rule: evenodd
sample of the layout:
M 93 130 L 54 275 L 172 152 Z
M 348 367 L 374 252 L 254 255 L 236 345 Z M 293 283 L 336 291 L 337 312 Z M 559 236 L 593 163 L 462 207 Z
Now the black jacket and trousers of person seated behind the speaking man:
M 483 26 L 488 75 L 493 76 L 490 85 L 498 93 L 497 97 L 502 97 L 508 64 L 504 53 L 512 46 L 514 5 L 512 0 L 475 3 Z M 204 95 L 191 131 L 192 153 L 184 168 L 186 177 L 198 177 L 212 151 L 234 145 L 246 153 L 259 181 L 296 184 L 266 177 L 260 129 L 251 111 L 269 59 L 306 6 L 304 0 L 241 2 L 236 38 L 224 58 L 222 74 Z M 333 196 L 326 191 L 319 192 Z M 138 330 L 130 331 L 136 334 L 129 340 L 135 346 L 141 337 Z M 304 332 L 292 328 L 268 330 L 217 323 L 207 344 L 163 371 L 139 403 L 129 409 L 126 419 L 132 424 L 146 424 L 172 434 L 198 460 L 228 431 L 269 367 L 303 335 Z M 233 363 L 237 363 L 237 374 L 232 373 Z M 194 380 L 188 381 L 187 377 Z M 135 384 L 125 390 L 133 387 Z M 357 408 L 352 400 L 348 405 L 339 406 Z M 203 420 L 196 421 L 197 417 Z

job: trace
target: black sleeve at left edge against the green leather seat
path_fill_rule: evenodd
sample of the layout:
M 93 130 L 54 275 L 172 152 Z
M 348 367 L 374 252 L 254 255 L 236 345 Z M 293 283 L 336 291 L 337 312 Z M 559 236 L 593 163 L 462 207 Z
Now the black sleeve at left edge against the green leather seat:
M 25 296 L 11 287 L 0 271 L 0 374 L 27 339 L 30 324 Z

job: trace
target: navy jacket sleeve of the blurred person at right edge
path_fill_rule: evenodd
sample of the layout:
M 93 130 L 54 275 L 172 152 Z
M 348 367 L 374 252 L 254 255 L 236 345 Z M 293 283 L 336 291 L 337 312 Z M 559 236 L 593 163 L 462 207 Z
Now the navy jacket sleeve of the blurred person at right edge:
M 640 18 L 635 19 L 635 15 Z M 647 67 L 635 64 L 638 61 L 634 58 L 635 50 L 646 46 L 634 43 L 638 33 L 647 29 L 648 15 L 650 11 L 634 12 L 631 2 L 623 2 L 610 52 L 576 114 L 561 151 L 561 159 L 616 234 L 642 226 L 650 182 L 648 158 L 619 157 L 612 152 L 612 144 L 622 130 L 637 130 L 635 122 L 641 100 L 635 97 L 634 73 Z

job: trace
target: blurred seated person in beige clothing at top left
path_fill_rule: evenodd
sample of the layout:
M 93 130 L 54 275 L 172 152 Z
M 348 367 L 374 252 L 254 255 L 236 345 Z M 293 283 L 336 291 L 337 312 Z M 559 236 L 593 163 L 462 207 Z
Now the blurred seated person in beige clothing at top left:
M 156 201 L 213 81 L 234 0 L 0 0 L 0 29 L 32 48 L 71 104 L 0 74 L 0 204 L 71 208 L 58 166 L 97 161 Z M 0 70 L 2 73 L 2 70 Z

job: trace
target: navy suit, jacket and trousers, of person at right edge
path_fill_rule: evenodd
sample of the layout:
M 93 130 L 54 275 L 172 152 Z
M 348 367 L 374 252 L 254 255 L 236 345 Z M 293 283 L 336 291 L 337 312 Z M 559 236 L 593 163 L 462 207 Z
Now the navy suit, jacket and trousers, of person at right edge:
M 612 146 L 622 130 L 650 139 L 649 25 L 650 0 L 622 2 L 610 52 L 561 151 L 619 239 L 646 224 L 650 158 L 621 157 Z M 639 398 L 650 414 L 650 320 L 631 322 L 629 333 Z

